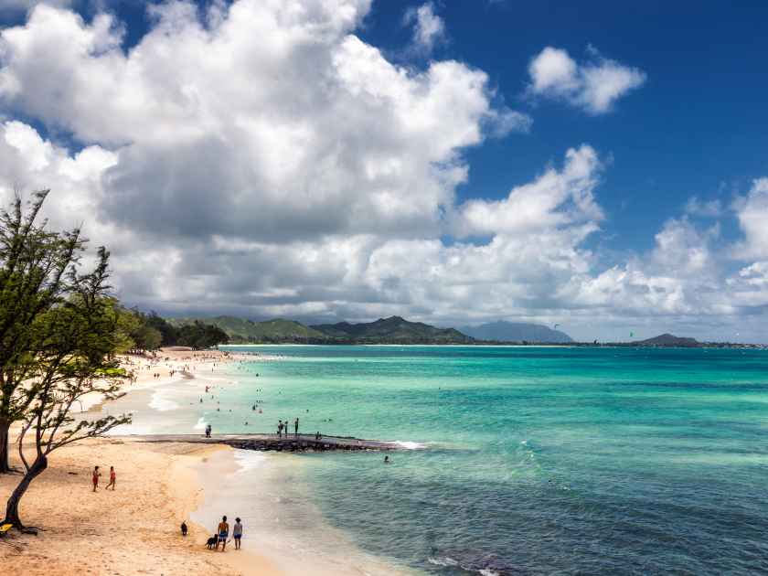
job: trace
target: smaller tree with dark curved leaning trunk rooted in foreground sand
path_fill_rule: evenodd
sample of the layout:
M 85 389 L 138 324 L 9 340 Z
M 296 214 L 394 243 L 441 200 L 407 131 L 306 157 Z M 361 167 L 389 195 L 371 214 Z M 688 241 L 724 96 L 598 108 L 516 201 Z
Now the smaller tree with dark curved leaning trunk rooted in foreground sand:
M 5 522 L 15 528 L 34 531 L 25 528 L 18 506 L 32 481 L 48 467 L 51 452 L 130 421 L 127 415 L 77 420 L 71 413 L 86 394 L 98 393 L 107 401 L 119 398 L 123 380 L 130 377 L 115 359 L 122 335 L 116 302 L 106 295 L 108 260 L 109 253 L 101 248 L 93 272 L 80 276 L 70 270 L 69 298 L 38 315 L 31 326 L 38 347 L 32 351 L 34 368 L 21 387 L 27 411 L 17 439 L 25 474 L 5 507 Z M 34 433 L 34 454 L 27 457 L 25 439 L 30 432 Z

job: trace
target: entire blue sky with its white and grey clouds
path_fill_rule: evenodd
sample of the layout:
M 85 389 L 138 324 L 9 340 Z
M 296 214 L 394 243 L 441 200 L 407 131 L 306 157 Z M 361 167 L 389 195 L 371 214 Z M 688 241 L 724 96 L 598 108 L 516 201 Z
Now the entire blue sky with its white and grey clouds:
M 0 200 L 164 315 L 768 342 L 768 5 L 0 0 Z

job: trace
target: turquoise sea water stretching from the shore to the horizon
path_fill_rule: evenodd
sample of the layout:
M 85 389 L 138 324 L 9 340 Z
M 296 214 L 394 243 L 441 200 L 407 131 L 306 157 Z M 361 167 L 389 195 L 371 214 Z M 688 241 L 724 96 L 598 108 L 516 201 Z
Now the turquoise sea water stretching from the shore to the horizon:
M 284 358 L 231 368 L 219 411 L 196 406 L 215 432 L 298 416 L 426 445 L 389 465 L 303 456 L 327 521 L 379 556 L 438 574 L 768 572 L 768 352 L 241 349 Z

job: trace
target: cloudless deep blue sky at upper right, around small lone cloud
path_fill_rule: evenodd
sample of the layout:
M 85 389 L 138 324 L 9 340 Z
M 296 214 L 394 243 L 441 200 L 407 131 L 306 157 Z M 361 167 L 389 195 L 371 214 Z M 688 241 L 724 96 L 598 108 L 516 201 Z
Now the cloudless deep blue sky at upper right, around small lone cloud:
M 501 97 L 534 116 L 528 134 L 469 155 L 467 197 L 498 197 L 528 181 L 573 144 L 589 142 L 613 165 L 600 188 L 618 247 L 649 249 L 656 230 L 688 198 L 730 202 L 765 173 L 768 157 L 768 4 L 700 2 L 445 2 L 448 39 L 436 50 L 487 71 Z M 397 53 L 412 3 L 375 5 L 362 37 Z M 525 101 L 532 54 L 544 46 L 581 58 L 588 46 L 648 75 L 600 117 L 560 102 Z M 726 233 L 736 233 L 733 226 Z

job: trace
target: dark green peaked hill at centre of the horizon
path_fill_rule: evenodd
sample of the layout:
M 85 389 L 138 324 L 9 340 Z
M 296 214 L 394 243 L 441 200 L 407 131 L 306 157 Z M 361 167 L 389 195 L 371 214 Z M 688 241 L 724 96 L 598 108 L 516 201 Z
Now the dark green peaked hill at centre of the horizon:
M 473 338 L 454 328 L 436 328 L 421 322 L 409 322 L 400 316 L 379 318 L 375 322 L 312 325 L 325 336 L 359 343 L 379 344 L 471 344 Z

